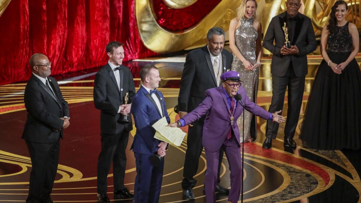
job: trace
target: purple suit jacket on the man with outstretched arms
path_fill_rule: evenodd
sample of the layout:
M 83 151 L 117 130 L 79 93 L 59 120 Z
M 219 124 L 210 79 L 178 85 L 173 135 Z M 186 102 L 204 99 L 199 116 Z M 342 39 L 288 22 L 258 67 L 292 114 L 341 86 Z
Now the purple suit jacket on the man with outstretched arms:
M 269 119 L 270 113 L 263 108 L 253 103 L 246 95 L 244 87 L 240 87 L 238 94 L 242 95 L 242 101 L 245 109 L 256 116 L 264 119 Z M 207 151 L 218 151 L 231 129 L 230 113 L 227 103 L 227 98 L 223 87 L 211 88 L 205 92 L 206 98 L 199 106 L 192 112 L 183 117 L 185 124 L 188 125 L 198 120 L 203 115 L 206 115 L 203 125 L 203 146 Z M 236 135 L 238 144 L 240 145 L 239 129 L 237 119 L 243 112 L 243 107 L 240 103 L 237 104 L 236 110 L 233 114 L 234 123 L 232 129 Z

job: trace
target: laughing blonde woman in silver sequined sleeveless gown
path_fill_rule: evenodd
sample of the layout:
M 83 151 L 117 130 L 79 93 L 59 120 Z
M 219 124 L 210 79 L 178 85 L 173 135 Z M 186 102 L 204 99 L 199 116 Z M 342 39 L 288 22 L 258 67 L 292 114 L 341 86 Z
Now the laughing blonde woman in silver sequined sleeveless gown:
M 240 73 L 242 86 L 252 102 L 257 102 L 258 73 L 261 65 L 261 23 L 255 20 L 257 3 L 243 0 L 237 8 L 238 17 L 230 22 L 229 43 L 233 52 L 232 70 Z M 244 141 L 256 139 L 256 116 L 244 111 Z M 237 120 L 242 140 L 243 115 Z M 252 126 L 252 127 L 251 127 Z

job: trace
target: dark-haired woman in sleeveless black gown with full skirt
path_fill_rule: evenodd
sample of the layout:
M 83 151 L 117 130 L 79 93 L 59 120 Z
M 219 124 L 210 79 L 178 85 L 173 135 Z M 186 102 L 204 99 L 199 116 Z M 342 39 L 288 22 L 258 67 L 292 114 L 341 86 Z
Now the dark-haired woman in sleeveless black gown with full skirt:
M 347 22 L 347 4 L 336 1 L 323 27 L 321 54 L 300 139 L 305 147 L 357 150 L 361 146 L 361 71 L 355 56 L 357 27 Z

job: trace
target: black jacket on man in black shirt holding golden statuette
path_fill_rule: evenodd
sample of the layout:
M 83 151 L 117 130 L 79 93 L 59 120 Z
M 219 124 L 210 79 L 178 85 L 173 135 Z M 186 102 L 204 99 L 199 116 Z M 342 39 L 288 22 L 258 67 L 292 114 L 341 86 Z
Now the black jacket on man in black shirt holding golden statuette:
M 302 77 L 308 73 L 307 54 L 317 48 L 316 38 L 313 31 L 311 19 L 301 13 L 298 13 L 296 22 L 295 36 L 293 36 L 292 45 L 296 45 L 300 51 L 299 55 L 281 55 L 280 50 L 284 45 L 285 38 L 282 27 L 287 23 L 286 12 L 272 18 L 265 37 L 263 47 L 273 53 L 271 62 L 271 73 L 282 77 L 286 74 L 290 63 L 297 77 Z M 291 32 L 288 26 L 288 33 Z M 275 44 L 273 44 L 273 41 Z

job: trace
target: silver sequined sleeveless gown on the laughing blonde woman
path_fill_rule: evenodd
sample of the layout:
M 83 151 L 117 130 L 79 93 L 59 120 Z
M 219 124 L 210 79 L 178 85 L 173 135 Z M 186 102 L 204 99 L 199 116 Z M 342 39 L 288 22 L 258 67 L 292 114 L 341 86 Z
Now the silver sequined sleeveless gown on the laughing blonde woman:
M 235 30 L 234 38 L 236 46 L 242 56 L 251 62 L 251 64 L 256 64 L 256 40 L 258 33 L 253 27 L 253 21 L 253 18 L 240 20 L 240 26 Z M 240 79 L 243 81 L 242 86 L 245 88 L 247 96 L 252 102 L 256 103 L 259 68 L 256 68 L 254 71 L 246 70 L 242 61 L 233 54 L 232 70 L 240 73 Z M 253 135 L 253 138 L 256 138 L 256 116 L 253 116 L 252 113 L 248 111 L 244 111 L 244 113 L 244 140 L 245 142 L 248 142 L 251 138 L 251 134 Z M 240 141 L 243 142 L 243 115 L 238 118 L 237 124 L 240 131 Z

